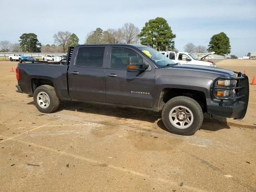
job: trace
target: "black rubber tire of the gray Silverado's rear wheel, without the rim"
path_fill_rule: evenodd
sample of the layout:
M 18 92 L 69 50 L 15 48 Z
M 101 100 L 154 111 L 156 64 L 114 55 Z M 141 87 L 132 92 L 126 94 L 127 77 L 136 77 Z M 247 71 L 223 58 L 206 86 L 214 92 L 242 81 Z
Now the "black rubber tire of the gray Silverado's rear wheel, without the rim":
M 45 92 L 48 95 L 49 105 L 47 108 L 42 108 L 37 101 L 38 94 Z M 36 108 L 42 113 L 51 113 L 58 109 L 60 100 L 58 99 L 54 87 L 50 85 L 41 85 L 34 91 L 34 104 Z

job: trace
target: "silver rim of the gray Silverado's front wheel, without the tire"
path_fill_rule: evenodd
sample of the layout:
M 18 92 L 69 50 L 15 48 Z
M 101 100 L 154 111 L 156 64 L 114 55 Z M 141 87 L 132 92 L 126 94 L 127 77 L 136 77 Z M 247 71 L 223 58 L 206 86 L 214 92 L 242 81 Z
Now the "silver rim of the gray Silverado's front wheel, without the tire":
M 169 119 L 171 124 L 178 129 L 190 127 L 194 121 L 192 111 L 185 106 L 176 106 L 170 110 Z

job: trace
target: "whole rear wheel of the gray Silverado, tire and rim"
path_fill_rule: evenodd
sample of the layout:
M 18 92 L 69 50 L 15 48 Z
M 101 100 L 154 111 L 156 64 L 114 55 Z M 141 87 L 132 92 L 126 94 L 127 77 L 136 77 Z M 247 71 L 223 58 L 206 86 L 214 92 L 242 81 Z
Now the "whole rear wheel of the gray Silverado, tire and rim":
M 60 105 L 54 87 L 50 85 L 41 85 L 34 91 L 34 104 L 42 113 L 54 112 Z

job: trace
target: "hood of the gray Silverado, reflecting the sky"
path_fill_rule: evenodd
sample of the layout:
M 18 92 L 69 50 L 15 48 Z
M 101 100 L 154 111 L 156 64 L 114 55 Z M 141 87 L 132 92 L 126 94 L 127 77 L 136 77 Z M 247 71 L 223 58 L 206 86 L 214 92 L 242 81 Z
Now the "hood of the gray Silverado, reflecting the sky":
M 209 67 L 209 66 L 200 66 L 200 65 L 175 65 L 171 67 L 166 67 L 165 69 L 179 69 L 179 70 L 188 70 L 195 72 L 206 72 L 211 74 L 218 74 L 220 76 L 230 77 L 234 76 L 234 72 L 228 69 L 218 68 L 218 67 Z

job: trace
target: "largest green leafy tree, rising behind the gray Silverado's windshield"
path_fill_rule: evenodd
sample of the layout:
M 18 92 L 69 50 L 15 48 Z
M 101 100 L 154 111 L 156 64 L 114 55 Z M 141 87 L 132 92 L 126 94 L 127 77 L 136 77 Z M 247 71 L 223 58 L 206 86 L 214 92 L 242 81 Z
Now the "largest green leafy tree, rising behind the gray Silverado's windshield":
M 176 35 L 172 33 L 170 26 L 164 18 L 157 17 L 145 23 L 140 34 L 141 44 L 150 45 L 159 50 L 174 49 Z

